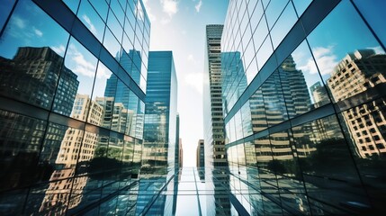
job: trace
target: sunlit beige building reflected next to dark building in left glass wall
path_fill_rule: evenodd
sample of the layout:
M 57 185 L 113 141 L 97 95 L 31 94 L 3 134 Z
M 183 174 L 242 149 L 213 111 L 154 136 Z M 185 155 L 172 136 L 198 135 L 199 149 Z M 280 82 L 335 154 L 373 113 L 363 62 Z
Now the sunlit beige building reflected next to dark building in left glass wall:
M 76 94 L 71 117 L 100 126 L 103 122 L 103 106 L 92 101 L 88 95 Z M 94 158 L 97 141 L 95 133 L 72 128 L 66 130 L 55 161 L 57 169 L 49 178 L 51 183 L 41 203 L 41 213 L 64 214 L 67 206 L 72 209 L 82 201 L 82 190 L 88 176 L 74 178 L 76 165 Z

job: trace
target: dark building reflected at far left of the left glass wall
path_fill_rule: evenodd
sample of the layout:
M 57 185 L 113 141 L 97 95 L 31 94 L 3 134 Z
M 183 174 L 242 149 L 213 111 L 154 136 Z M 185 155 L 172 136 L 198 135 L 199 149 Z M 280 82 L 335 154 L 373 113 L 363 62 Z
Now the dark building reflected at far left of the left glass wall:
M 2 80 L 0 94 L 48 110 L 52 106 L 54 94 L 58 94 L 60 96 L 55 98 L 53 106 L 61 114 L 70 114 L 79 82 L 76 80 L 76 74 L 62 64 L 63 58 L 48 47 L 22 47 L 18 49 L 13 59 L 0 57 Z M 2 116 L 4 123 L 12 122 L 8 126 L 3 124 L 2 127 L 5 132 L 2 133 L 4 136 L 1 141 L 2 164 L 6 175 L 3 179 L 12 179 L 13 182 L 2 184 L 4 189 L 42 180 L 42 176 L 32 179 L 27 177 L 27 173 L 32 170 L 37 173 L 47 172 L 45 175 L 50 175 L 49 169 L 52 170 L 53 167 L 48 166 L 57 159 L 58 149 L 66 130 L 54 126 L 45 131 L 47 126 L 45 121 L 11 112 L 2 111 Z M 24 128 L 22 125 L 25 125 Z M 44 132 L 46 139 L 39 153 Z M 39 166 L 34 166 L 38 160 Z M 13 167 L 15 165 L 20 167 Z

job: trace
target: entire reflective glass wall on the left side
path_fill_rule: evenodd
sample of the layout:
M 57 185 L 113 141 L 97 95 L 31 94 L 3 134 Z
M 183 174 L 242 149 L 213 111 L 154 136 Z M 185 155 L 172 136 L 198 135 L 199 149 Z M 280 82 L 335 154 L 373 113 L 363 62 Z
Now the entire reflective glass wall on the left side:
M 130 213 L 148 65 L 142 2 L 2 1 L 0 14 L 0 214 Z

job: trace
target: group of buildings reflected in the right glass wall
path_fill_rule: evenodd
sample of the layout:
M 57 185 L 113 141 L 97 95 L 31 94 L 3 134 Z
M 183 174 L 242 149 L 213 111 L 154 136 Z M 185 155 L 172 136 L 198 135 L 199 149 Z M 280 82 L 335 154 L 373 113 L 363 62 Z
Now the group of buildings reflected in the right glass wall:
M 359 181 L 355 165 L 346 149 L 341 127 L 346 128 L 349 138 L 352 139 L 357 157 L 382 157 L 385 102 L 380 95 L 381 89 L 384 88 L 385 60 L 385 55 L 376 54 L 371 49 L 347 54 L 327 79 L 327 87 L 316 82 L 310 85 L 309 91 L 303 71 L 296 67 L 296 62 L 290 55 L 256 93 L 252 94 L 240 109 L 241 114 L 237 112 L 229 121 L 231 124 L 227 125 L 230 131 L 227 137 L 230 142 L 238 140 L 238 133 L 244 133 L 244 136 L 265 134 L 265 131 L 274 125 L 283 125 L 301 114 L 319 109 L 330 103 L 329 94 L 342 110 L 343 124 L 339 123 L 335 115 L 331 115 L 293 126 L 291 130 L 268 130 L 267 135 L 260 135 L 258 139 L 245 142 L 244 145 L 230 146 L 229 168 L 230 173 L 236 177 L 231 180 L 231 189 L 234 188 L 237 194 L 238 190 L 242 190 L 242 185 L 246 184 L 248 202 L 251 209 L 254 209 L 248 211 L 249 213 L 270 215 L 287 212 L 299 215 L 307 214 L 311 211 L 310 206 L 315 205 L 318 208 L 313 207 L 316 209 L 312 211 L 319 214 L 328 211 L 338 213 L 342 211 L 332 210 L 330 203 L 336 203 L 339 199 L 345 200 L 347 197 L 363 203 L 364 209 L 369 208 L 363 188 L 340 184 L 340 187 L 352 191 L 355 195 L 343 191 L 335 192 L 314 175 Z M 235 67 L 229 65 L 227 68 Z M 235 76 L 232 78 L 235 79 Z M 225 85 L 224 91 L 229 87 L 231 86 Z M 356 105 L 358 103 L 359 105 Z M 244 154 L 247 164 L 243 164 Z M 378 162 L 366 163 L 357 159 L 357 163 L 362 167 L 374 166 L 373 164 Z M 241 167 L 246 165 L 247 175 L 243 175 L 244 169 Z M 367 176 L 374 172 L 379 171 L 373 168 L 364 171 L 364 174 L 367 174 L 364 179 L 370 182 Z M 310 190 L 310 196 L 328 204 L 307 198 L 303 181 Z M 375 179 L 371 182 L 379 184 Z M 278 195 L 281 191 L 287 192 Z M 337 200 L 330 198 L 333 193 Z M 242 202 L 242 199 L 239 201 Z M 347 211 L 360 211 L 358 207 L 349 204 L 345 207 L 349 209 Z

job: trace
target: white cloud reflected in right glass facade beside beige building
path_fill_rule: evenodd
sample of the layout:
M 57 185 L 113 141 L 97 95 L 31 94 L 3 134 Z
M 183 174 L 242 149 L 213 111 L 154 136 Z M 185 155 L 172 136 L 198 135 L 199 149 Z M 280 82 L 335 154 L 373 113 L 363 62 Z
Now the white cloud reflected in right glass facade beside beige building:
M 333 49 L 333 46 L 328 46 L 327 48 L 317 47 L 312 49 L 321 75 L 331 74 L 331 72 L 339 63 L 337 56 L 333 52 Z M 318 73 L 318 69 L 315 67 L 315 63 L 312 58 L 309 58 L 306 64 L 299 66 L 298 68 L 300 68 L 302 71 L 308 71 L 310 74 Z

